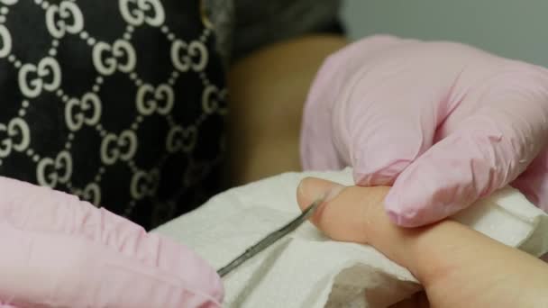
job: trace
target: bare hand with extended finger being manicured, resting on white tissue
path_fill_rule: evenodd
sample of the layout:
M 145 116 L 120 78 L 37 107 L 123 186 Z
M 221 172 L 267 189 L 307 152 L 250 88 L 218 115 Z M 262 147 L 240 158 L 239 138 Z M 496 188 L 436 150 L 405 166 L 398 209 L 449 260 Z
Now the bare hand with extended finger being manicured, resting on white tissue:
M 416 276 L 425 296 L 397 307 L 548 307 L 548 266 L 541 260 L 458 222 L 397 227 L 383 211 L 388 186 L 333 185 L 305 179 L 298 203 L 305 208 L 331 192 L 311 218 L 315 226 L 333 240 L 370 244 Z

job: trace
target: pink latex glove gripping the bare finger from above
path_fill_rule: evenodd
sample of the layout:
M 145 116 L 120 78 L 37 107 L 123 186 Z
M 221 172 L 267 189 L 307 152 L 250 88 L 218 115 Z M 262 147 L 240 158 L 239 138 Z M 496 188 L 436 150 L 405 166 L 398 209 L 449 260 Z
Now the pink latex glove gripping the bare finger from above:
M 374 36 L 333 54 L 308 96 L 306 169 L 393 185 L 393 222 L 439 221 L 511 183 L 548 209 L 548 70 L 452 42 Z

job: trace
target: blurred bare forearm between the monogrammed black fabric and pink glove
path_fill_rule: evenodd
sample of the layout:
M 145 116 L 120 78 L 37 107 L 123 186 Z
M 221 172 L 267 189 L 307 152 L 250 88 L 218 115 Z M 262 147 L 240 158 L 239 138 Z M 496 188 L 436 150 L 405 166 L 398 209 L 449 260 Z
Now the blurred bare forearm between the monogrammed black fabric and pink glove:
M 347 43 L 335 35 L 301 37 L 233 64 L 228 73 L 230 186 L 301 170 L 298 145 L 308 89 L 324 59 Z

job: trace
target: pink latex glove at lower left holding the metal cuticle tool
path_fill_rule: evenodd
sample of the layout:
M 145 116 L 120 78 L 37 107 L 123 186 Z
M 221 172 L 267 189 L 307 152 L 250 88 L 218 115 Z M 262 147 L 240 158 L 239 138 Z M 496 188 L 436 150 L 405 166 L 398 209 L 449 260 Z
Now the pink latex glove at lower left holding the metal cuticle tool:
M 0 307 L 220 307 L 184 246 L 77 197 L 0 177 Z

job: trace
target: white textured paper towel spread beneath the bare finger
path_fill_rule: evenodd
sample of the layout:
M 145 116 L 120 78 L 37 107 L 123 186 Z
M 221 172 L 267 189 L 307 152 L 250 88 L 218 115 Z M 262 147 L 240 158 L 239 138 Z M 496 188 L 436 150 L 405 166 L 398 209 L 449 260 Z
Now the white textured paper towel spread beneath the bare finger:
M 293 219 L 299 181 L 322 177 L 352 185 L 352 170 L 290 173 L 216 195 L 156 231 L 186 244 L 215 267 L 226 265 Z M 548 216 L 513 188 L 455 219 L 534 256 L 548 251 Z M 366 245 L 329 240 L 305 222 L 224 278 L 226 307 L 386 307 L 420 290 L 413 277 Z

